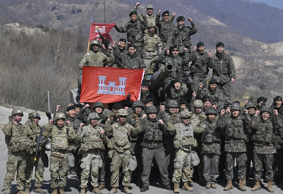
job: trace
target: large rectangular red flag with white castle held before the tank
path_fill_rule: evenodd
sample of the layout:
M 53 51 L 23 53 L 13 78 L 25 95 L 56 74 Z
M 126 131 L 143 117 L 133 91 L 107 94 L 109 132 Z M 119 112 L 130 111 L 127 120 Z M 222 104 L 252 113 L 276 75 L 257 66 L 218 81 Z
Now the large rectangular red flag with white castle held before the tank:
M 143 76 L 143 69 L 84 66 L 80 102 L 139 100 Z

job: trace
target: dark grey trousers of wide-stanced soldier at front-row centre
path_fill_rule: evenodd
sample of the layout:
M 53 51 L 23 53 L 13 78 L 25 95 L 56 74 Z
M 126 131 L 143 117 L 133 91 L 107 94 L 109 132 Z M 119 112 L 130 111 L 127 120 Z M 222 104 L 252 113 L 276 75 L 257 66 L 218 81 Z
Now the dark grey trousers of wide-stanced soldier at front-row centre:
M 149 185 L 149 175 L 151 171 L 152 161 L 155 161 L 161 176 L 163 185 L 168 185 L 170 183 L 168 177 L 167 166 L 164 163 L 165 161 L 165 152 L 163 147 L 159 148 L 142 148 L 142 164 L 143 170 L 141 174 L 141 180 L 143 186 Z

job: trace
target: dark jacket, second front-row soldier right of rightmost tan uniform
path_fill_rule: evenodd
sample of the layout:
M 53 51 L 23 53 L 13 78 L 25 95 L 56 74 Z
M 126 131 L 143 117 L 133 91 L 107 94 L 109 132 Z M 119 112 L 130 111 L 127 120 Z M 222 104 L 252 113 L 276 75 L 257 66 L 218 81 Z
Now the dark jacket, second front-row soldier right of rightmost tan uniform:
M 225 152 L 246 152 L 247 131 L 243 127 L 244 118 L 240 115 L 237 119 L 233 116 L 225 119 L 220 115 L 217 126 L 225 133 Z

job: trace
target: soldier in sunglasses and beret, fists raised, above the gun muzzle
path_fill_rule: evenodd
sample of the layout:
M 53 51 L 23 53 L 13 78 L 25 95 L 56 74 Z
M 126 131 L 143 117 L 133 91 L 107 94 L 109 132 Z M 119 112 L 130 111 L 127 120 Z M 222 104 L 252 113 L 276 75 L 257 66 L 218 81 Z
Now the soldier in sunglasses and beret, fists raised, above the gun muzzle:
M 161 55 L 159 55 L 158 60 L 160 61 L 160 63 L 162 63 L 163 65 L 159 67 L 159 70 L 162 70 L 164 65 L 172 65 L 173 70 L 170 73 L 170 75 L 168 76 L 168 78 L 166 78 L 165 84 L 170 83 L 170 81 L 179 78 L 180 80 L 183 79 L 183 75 L 184 75 L 184 66 L 187 65 L 190 60 L 189 60 L 189 54 L 186 52 L 184 54 L 184 56 L 180 56 L 179 55 L 179 46 L 178 45 L 174 45 L 172 47 L 170 47 L 170 51 L 171 51 L 171 55 L 168 57 L 167 55 L 167 49 L 168 48 L 164 48 L 164 50 L 162 50 Z M 184 48 L 185 50 L 187 50 L 186 48 Z M 188 69 L 188 67 L 187 67 Z

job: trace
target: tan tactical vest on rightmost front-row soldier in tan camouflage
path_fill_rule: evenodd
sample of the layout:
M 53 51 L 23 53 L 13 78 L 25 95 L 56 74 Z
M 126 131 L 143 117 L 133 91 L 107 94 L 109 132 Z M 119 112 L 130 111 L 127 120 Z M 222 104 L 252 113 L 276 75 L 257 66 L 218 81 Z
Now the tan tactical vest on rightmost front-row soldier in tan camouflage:
M 180 128 L 180 134 L 175 134 L 174 138 L 174 147 L 175 148 L 187 148 L 189 149 L 191 146 L 193 147 L 195 139 L 194 139 L 194 131 L 191 125 L 183 125 L 182 123 L 178 123 Z

